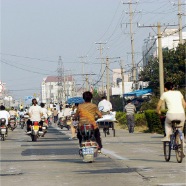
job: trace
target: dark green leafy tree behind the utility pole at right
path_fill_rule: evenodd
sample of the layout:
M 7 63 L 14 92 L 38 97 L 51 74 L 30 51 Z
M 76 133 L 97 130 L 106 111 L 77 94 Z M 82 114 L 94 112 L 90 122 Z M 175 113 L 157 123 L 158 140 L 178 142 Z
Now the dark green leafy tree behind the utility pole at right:
M 185 87 L 185 48 L 186 43 L 176 49 L 163 50 L 164 82 L 171 81 L 176 88 Z M 159 64 L 157 58 L 149 60 L 139 75 L 141 81 L 149 81 L 155 95 L 159 94 Z

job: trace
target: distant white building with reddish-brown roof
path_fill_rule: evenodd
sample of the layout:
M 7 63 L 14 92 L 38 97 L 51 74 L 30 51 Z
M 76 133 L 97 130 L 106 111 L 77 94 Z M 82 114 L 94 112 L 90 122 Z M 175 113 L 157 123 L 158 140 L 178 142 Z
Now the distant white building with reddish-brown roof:
M 43 79 L 41 87 L 43 103 L 64 103 L 75 96 L 75 81 L 72 76 L 65 76 L 61 80 L 58 76 L 48 76 Z

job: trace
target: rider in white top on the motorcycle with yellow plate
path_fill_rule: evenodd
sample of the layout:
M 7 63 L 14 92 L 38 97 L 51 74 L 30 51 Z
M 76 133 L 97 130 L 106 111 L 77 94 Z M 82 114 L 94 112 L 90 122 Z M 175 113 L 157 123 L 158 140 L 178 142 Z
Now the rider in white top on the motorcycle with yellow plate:
M 41 107 L 37 104 L 37 100 L 34 98 L 32 99 L 32 106 L 29 108 L 29 117 L 30 119 L 27 121 L 27 133 L 30 133 L 30 125 L 32 125 L 32 122 L 34 121 L 41 121 L 42 117 L 42 110 Z

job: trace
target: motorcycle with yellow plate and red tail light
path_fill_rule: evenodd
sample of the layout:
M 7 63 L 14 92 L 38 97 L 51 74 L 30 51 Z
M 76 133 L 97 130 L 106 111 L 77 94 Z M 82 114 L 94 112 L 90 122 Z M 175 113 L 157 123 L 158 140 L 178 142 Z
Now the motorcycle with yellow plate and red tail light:
M 32 125 L 29 125 L 30 131 L 27 132 L 30 135 L 32 141 L 37 141 L 37 139 L 43 135 L 42 125 L 38 121 L 33 121 Z

